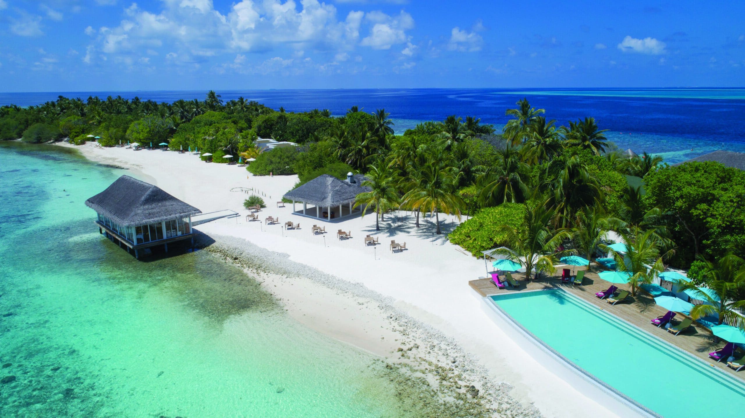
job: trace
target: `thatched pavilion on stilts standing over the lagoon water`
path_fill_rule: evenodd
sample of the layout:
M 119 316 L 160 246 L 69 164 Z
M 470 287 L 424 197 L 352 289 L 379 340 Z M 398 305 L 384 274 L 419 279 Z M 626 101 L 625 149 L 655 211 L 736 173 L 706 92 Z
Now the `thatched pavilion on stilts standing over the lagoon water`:
M 121 176 L 106 190 L 86 200 L 98 213 L 98 232 L 135 251 L 191 238 L 191 216 L 201 210 L 176 199 L 153 184 Z

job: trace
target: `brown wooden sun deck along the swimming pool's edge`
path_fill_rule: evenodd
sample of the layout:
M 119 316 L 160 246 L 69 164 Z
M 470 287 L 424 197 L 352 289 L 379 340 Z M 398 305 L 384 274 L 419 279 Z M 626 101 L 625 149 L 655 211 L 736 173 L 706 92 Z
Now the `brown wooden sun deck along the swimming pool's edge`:
M 561 269 L 558 269 L 558 271 L 561 271 Z M 656 303 L 654 303 L 654 299 L 642 290 L 639 290 L 636 293 L 636 296 L 629 296 L 629 298 L 624 302 L 618 302 L 615 305 L 611 305 L 610 303 L 607 303 L 606 300 L 600 300 L 595 296 L 595 293 L 603 292 L 603 290 L 608 289 L 610 283 L 600 279 L 600 277 L 597 276 L 597 271 L 594 270 L 586 272 L 582 286 L 562 283 L 562 281 L 556 277 L 543 277 L 539 280 L 533 279 L 530 280 L 529 283 L 526 283 L 524 280 L 524 273 L 513 274 L 513 277 L 518 280 L 520 285 L 516 289 L 510 287 L 507 287 L 507 289 L 497 289 L 497 286 L 494 286 L 491 279 L 471 280 L 469 281 L 469 286 L 471 286 L 471 288 L 482 297 L 530 290 L 555 288 L 565 289 L 572 295 L 582 298 L 586 302 L 597 306 L 597 308 L 618 316 L 618 318 L 621 318 L 638 328 L 644 329 L 650 334 L 662 338 L 662 340 L 668 341 L 668 343 L 673 344 L 681 350 L 685 350 L 688 353 L 703 359 L 703 361 L 706 361 L 706 363 L 710 364 L 712 367 L 718 367 L 732 376 L 737 376 L 738 378 L 745 380 L 745 370 L 735 372 L 735 370 L 727 367 L 726 363 L 717 363 L 711 358 L 708 358 L 708 353 L 711 353 L 717 348 L 723 347 L 725 343 L 720 341 L 718 344 L 714 344 L 711 332 L 706 327 L 694 322 L 694 325 L 689 327 L 688 330 L 681 332 L 678 335 L 673 335 L 662 327 L 657 328 L 650 324 L 652 318 L 665 315 L 665 312 L 668 312 L 668 309 L 663 309 L 657 306 Z M 621 289 L 627 289 L 624 285 L 616 286 Z M 673 324 L 676 324 L 681 320 L 681 315 L 682 314 L 676 315 Z

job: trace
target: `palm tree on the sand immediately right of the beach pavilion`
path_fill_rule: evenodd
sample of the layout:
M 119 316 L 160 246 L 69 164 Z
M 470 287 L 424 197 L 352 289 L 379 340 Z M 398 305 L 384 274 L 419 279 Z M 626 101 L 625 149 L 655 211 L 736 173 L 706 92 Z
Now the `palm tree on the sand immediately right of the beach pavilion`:
M 388 168 L 387 164 L 368 166 L 370 171 L 365 174 L 366 179 L 362 181 L 363 187 L 370 187 L 369 192 L 360 193 L 355 199 L 354 207 L 365 205 L 362 216 L 365 216 L 370 205 L 375 206 L 375 231 L 380 231 L 378 219 L 383 219 L 383 213 L 396 208 L 399 204 L 399 193 L 396 190 L 396 176 Z

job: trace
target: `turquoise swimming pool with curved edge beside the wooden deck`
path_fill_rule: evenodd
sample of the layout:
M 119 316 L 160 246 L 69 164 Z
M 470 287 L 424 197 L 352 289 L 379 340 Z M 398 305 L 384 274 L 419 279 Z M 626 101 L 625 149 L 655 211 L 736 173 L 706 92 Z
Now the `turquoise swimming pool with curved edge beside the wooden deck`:
M 565 291 L 489 298 L 555 353 L 662 417 L 741 417 L 745 411 L 745 382 Z

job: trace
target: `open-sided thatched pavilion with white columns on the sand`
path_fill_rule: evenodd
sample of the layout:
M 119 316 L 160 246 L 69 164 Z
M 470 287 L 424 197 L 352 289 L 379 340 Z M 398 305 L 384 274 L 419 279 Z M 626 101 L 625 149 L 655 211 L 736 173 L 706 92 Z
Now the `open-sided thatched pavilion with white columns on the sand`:
M 292 211 L 297 215 L 331 221 L 333 218 L 343 218 L 361 212 L 359 209 L 353 209 L 352 205 L 358 194 L 370 191 L 370 187 L 361 185 L 362 181 L 364 176 L 361 174 L 347 173 L 346 181 L 322 174 L 285 193 L 284 198 L 292 201 Z M 302 202 L 302 210 L 295 210 L 297 202 Z M 308 205 L 313 205 L 315 210 L 308 208 Z

